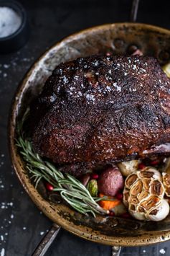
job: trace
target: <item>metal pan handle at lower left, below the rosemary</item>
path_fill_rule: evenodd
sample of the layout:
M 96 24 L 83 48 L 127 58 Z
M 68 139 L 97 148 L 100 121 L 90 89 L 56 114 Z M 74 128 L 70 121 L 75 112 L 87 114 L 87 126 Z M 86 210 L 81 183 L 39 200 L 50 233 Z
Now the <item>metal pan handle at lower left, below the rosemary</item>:
M 49 229 L 45 237 L 43 237 L 42 241 L 38 244 L 32 256 L 44 256 L 52 242 L 55 240 L 55 237 L 57 237 L 57 234 L 59 233 L 60 229 L 61 226 L 58 226 L 55 223 L 52 224 L 51 229 Z

